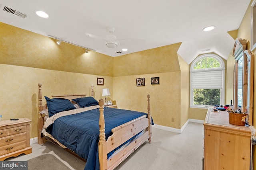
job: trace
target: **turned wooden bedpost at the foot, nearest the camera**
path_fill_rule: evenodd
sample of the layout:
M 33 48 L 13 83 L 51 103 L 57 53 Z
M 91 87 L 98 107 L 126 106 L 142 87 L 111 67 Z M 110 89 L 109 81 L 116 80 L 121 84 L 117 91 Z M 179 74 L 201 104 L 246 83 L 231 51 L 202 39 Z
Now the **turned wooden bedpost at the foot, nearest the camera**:
M 99 145 L 99 161 L 100 161 L 100 170 L 107 169 L 107 143 L 106 143 L 106 135 L 105 135 L 105 119 L 104 119 L 104 100 L 100 99 L 100 141 Z

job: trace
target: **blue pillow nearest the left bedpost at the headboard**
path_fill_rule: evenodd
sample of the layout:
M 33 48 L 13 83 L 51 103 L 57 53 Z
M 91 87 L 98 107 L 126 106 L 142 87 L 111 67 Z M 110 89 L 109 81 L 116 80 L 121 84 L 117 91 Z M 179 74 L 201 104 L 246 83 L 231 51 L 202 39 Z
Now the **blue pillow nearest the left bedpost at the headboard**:
M 61 111 L 76 109 L 76 107 L 68 99 L 64 99 L 64 98 L 50 99 L 46 96 L 44 96 L 44 98 L 46 99 L 49 117 Z

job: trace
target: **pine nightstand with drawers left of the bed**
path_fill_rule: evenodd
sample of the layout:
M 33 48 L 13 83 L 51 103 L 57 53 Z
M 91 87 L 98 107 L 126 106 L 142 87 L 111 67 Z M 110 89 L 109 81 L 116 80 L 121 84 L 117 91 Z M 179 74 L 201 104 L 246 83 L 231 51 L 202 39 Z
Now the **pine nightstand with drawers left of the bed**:
M 31 120 L 27 118 L 0 121 L 0 161 L 32 152 L 30 123 Z

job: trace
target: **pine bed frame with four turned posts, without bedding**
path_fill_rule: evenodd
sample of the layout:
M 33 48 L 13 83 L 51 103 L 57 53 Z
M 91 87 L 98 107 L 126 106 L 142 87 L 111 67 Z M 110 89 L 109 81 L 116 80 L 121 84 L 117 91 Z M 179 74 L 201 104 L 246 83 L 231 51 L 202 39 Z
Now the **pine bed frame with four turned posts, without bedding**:
M 86 94 L 78 95 L 59 95 L 52 96 L 52 98 L 67 98 L 72 100 L 74 98 L 85 97 Z M 92 86 L 92 96 L 94 96 L 93 86 Z M 105 120 L 104 120 L 104 100 L 99 100 L 100 105 L 100 141 L 98 143 L 98 152 L 99 152 L 99 161 L 100 161 L 100 170 L 112 170 L 116 168 L 123 160 L 125 160 L 132 152 L 134 152 L 140 145 L 145 141 L 151 143 L 151 113 L 150 113 L 150 95 L 148 94 L 148 117 L 146 115 L 138 117 L 132 121 L 124 123 L 118 127 L 112 129 L 112 135 L 106 139 L 105 137 Z M 43 109 L 46 109 L 47 105 L 42 105 L 42 84 L 38 83 L 38 144 L 46 142 L 46 138 L 42 135 L 41 131 L 44 125 L 44 115 L 40 112 Z M 140 137 L 132 141 L 129 145 L 124 147 L 112 154 L 111 158 L 107 159 L 107 154 L 120 146 L 122 143 L 132 138 L 134 135 L 140 133 L 141 131 L 146 130 Z M 50 140 L 52 141 L 52 140 Z M 123 142 L 122 142 L 123 141 Z M 55 143 L 56 144 L 56 143 Z M 68 150 L 68 149 L 66 149 Z M 70 150 L 70 152 L 72 152 Z M 75 154 L 73 152 L 73 154 Z M 75 154 L 76 155 L 76 154 Z M 79 157 L 78 155 L 76 155 Z M 80 157 L 79 157 L 80 158 Z M 82 158 L 82 160 L 84 160 Z

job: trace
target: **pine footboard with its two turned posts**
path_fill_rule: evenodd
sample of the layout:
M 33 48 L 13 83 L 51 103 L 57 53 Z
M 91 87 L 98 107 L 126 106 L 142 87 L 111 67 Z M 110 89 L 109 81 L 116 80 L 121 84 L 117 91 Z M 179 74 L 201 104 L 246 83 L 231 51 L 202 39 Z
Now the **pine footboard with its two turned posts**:
M 130 122 L 112 129 L 112 135 L 106 140 L 105 121 L 104 121 L 104 100 L 100 99 L 100 141 L 99 141 L 99 160 L 100 170 L 112 170 L 125 160 L 134 150 L 145 141 L 151 142 L 151 114 L 150 114 L 150 95 L 148 95 L 148 117 L 146 115 L 138 117 Z M 115 152 L 109 159 L 107 154 L 141 131 L 145 131 L 129 145 Z

